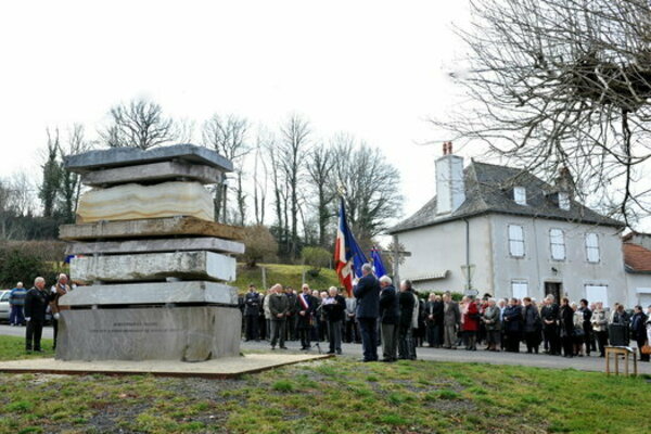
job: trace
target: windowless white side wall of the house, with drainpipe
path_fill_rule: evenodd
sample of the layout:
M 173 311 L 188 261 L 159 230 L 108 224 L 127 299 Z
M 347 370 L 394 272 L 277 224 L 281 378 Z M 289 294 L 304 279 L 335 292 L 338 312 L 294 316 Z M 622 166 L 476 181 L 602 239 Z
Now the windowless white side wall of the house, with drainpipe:
M 473 288 L 489 288 L 493 282 L 490 226 L 488 216 L 472 217 L 470 225 L 470 264 Z M 465 221 L 454 220 L 398 233 L 398 241 L 411 256 L 400 266 L 400 278 L 414 280 L 420 291 L 464 292 Z M 421 280 L 447 271 L 445 279 Z

